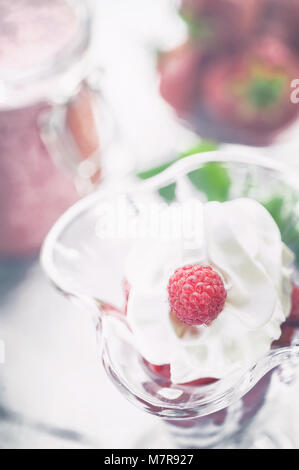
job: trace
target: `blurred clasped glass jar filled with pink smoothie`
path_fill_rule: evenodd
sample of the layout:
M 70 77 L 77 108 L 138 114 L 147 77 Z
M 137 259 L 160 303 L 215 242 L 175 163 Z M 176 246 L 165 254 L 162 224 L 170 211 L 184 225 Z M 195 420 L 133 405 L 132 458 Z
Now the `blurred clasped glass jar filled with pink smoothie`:
M 83 1 L 0 1 L 2 258 L 37 252 L 100 179 L 91 26 Z

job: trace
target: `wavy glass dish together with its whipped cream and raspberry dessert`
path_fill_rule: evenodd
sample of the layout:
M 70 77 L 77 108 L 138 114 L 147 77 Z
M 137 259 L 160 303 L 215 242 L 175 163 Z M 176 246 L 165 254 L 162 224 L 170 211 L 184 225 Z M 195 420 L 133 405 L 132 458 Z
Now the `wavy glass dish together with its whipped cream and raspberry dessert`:
M 216 151 L 80 201 L 41 262 L 90 313 L 108 377 L 164 423 L 167 445 L 260 448 L 267 436 L 280 448 L 289 418 L 273 424 L 273 410 L 299 361 L 298 240 L 296 177 Z

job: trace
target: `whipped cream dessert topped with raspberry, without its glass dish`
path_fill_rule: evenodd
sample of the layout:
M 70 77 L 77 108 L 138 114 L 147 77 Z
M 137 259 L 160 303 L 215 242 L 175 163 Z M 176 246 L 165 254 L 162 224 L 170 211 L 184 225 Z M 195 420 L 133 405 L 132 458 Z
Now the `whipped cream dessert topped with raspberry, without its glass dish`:
M 189 200 L 187 207 L 187 230 L 139 240 L 126 264 L 127 321 L 152 393 L 171 384 L 211 385 L 249 368 L 282 338 L 292 296 L 298 297 L 293 253 L 262 205 L 242 198 Z M 240 423 L 262 406 L 270 380 L 271 373 L 243 397 Z M 220 425 L 227 413 L 170 424 Z

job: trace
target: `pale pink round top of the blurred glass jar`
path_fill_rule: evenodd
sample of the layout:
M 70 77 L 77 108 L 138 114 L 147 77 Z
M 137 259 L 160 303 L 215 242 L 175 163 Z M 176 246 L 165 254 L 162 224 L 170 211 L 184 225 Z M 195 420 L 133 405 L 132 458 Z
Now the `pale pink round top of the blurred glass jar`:
M 84 0 L 0 0 L 0 106 L 48 96 L 49 82 L 82 60 L 90 35 Z

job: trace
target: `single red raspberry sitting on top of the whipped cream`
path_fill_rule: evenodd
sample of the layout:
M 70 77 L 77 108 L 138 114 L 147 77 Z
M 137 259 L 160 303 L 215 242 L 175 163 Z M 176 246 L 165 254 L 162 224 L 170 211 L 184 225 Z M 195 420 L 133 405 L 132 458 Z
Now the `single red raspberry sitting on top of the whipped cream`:
M 178 268 L 168 284 L 171 311 L 186 325 L 210 325 L 223 310 L 226 290 L 210 266 Z

